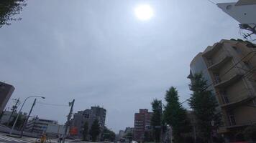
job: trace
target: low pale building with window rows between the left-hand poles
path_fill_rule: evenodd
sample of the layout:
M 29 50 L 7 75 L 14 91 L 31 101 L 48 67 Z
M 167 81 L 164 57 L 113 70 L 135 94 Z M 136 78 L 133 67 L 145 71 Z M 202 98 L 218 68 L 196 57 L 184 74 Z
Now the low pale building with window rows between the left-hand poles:
M 26 130 L 28 132 L 42 133 L 46 132 L 50 126 L 56 126 L 58 122 L 50 119 L 33 118 L 27 122 Z

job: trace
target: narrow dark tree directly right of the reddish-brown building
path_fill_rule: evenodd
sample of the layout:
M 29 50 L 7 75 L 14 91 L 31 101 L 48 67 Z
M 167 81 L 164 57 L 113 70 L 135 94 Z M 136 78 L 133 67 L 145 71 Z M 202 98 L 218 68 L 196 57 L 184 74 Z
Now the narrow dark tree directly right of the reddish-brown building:
M 155 142 L 160 142 L 161 129 L 162 129 L 162 101 L 154 99 L 152 105 L 151 126 L 153 129 L 153 137 Z

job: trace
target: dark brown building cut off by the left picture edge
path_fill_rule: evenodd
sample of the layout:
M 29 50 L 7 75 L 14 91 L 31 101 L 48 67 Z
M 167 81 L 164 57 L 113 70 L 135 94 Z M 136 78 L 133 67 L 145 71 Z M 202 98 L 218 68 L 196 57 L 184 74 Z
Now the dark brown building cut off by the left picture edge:
M 0 82 L 0 113 L 4 111 L 13 92 L 14 87 L 12 85 Z

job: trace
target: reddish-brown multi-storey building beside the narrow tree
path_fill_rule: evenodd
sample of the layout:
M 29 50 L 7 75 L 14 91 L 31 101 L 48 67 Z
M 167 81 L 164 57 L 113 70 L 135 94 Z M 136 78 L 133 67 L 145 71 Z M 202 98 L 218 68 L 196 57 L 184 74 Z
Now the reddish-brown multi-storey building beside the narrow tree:
M 145 132 L 150 132 L 152 112 L 147 109 L 140 109 L 139 113 L 134 114 L 134 140 L 143 141 Z

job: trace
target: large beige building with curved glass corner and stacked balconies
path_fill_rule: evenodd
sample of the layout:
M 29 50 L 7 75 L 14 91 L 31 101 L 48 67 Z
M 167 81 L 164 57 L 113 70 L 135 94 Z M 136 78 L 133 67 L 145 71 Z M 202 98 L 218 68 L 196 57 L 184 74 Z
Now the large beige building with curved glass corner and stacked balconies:
M 219 102 L 223 125 L 218 133 L 242 141 L 242 130 L 256 123 L 256 47 L 242 40 L 221 40 L 191 61 L 191 74 L 201 72 Z

